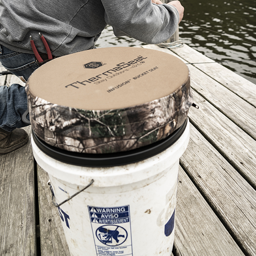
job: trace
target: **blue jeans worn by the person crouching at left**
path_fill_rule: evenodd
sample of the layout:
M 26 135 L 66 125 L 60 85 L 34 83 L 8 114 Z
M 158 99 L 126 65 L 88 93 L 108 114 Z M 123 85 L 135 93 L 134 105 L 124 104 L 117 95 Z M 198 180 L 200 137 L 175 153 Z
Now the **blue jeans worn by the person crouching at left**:
M 16 76 L 23 76 L 25 80 L 39 68 L 34 54 L 14 52 L 3 45 L 0 45 L 0 62 L 4 68 Z M 0 128 L 11 132 L 15 128 L 27 126 L 22 120 L 27 108 L 27 95 L 23 86 L 0 86 Z

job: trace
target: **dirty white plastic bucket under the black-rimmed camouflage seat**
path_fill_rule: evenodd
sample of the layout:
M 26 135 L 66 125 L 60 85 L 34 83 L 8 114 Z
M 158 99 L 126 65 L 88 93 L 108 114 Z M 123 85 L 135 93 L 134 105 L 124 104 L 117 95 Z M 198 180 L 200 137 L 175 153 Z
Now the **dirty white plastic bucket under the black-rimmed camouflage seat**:
M 132 164 L 84 167 L 45 154 L 32 138 L 36 162 L 48 172 L 72 256 L 170 256 L 179 159 L 189 122 L 174 144 Z

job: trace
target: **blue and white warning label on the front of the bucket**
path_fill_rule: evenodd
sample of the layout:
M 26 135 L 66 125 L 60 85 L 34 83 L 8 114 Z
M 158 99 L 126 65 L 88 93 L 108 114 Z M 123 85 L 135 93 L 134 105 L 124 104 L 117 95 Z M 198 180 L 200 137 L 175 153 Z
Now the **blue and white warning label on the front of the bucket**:
M 132 256 L 129 205 L 88 206 L 97 256 Z

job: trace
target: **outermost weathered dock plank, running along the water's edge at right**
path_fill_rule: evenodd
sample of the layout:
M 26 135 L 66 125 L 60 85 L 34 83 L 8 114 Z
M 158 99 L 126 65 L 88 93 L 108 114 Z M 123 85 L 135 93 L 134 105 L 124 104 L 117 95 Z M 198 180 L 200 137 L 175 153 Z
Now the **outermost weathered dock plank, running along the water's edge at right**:
M 213 62 L 213 60 L 186 44 L 182 48 L 173 48 L 172 51 L 189 63 Z M 256 84 L 251 83 L 219 63 L 193 65 L 256 107 Z

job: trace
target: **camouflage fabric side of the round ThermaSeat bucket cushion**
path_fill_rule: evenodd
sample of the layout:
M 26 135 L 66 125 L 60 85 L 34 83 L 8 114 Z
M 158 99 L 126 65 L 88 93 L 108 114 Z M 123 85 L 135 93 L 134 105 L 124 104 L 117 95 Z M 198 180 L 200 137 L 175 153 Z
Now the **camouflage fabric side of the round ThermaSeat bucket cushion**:
M 122 152 L 162 140 L 192 105 L 190 79 L 169 96 L 124 109 L 83 110 L 33 96 L 26 85 L 32 129 L 46 143 L 82 153 Z

